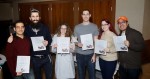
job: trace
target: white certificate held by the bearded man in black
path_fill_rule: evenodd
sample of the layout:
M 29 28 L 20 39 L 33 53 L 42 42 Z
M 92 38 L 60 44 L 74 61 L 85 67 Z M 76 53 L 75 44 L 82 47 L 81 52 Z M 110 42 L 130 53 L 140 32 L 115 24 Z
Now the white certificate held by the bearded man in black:
M 32 41 L 32 46 L 34 51 L 46 50 L 46 47 L 43 44 L 44 41 L 43 36 L 31 37 L 31 41 Z

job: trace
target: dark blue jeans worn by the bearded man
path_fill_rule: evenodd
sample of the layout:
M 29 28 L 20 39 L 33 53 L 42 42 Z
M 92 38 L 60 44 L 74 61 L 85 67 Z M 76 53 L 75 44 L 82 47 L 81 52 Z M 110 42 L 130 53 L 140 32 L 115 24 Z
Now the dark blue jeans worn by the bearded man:
M 52 79 L 52 60 L 50 55 L 44 57 L 32 56 L 31 61 L 35 73 L 35 79 L 42 79 L 41 68 L 45 71 L 46 79 Z

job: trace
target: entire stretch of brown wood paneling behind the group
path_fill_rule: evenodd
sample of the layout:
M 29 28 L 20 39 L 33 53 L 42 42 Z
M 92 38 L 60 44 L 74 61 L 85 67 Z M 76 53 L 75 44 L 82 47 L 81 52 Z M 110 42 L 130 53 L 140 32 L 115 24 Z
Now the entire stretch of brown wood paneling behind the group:
M 115 1 L 116 0 L 64 0 L 38 3 L 20 3 L 20 19 L 29 22 L 30 9 L 36 8 L 41 13 L 41 21 L 48 25 L 51 33 L 55 33 L 57 27 L 67 23 L 72 31 L 76 24 L 82 22 L 82 11 L 88 9 L 91 13 L 90 21 L 100 27 L 100 21 L 109 19 L 115 25 Z

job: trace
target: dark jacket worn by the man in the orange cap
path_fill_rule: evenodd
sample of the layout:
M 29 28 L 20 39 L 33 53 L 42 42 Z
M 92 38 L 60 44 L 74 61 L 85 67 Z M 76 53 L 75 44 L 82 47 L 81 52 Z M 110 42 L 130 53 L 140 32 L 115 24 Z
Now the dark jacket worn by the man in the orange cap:
M 120 33 L 121 35 L 121 33 Z M 144 48 L 144 39 L 142 34 L 130 28 L 129 26 L 125 32 L 126 39 L 129 41 L 130 45 L 128 51 L 121 51 L 118 54 L 118 60 L 120 65 L 125 68 L 140 68 L 141 67 L 141 52 Z

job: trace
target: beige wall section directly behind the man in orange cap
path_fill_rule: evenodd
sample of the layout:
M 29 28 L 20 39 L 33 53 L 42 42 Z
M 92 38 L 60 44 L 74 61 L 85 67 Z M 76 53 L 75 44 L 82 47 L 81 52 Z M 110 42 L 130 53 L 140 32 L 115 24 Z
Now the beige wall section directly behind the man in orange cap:
M 145 0 L 116 0 L 116 20 L 119 16 L 126 16 L 130 27 L 142 32 L 144 2 Z M 117 24 L 116 29 L 118 29 Z

